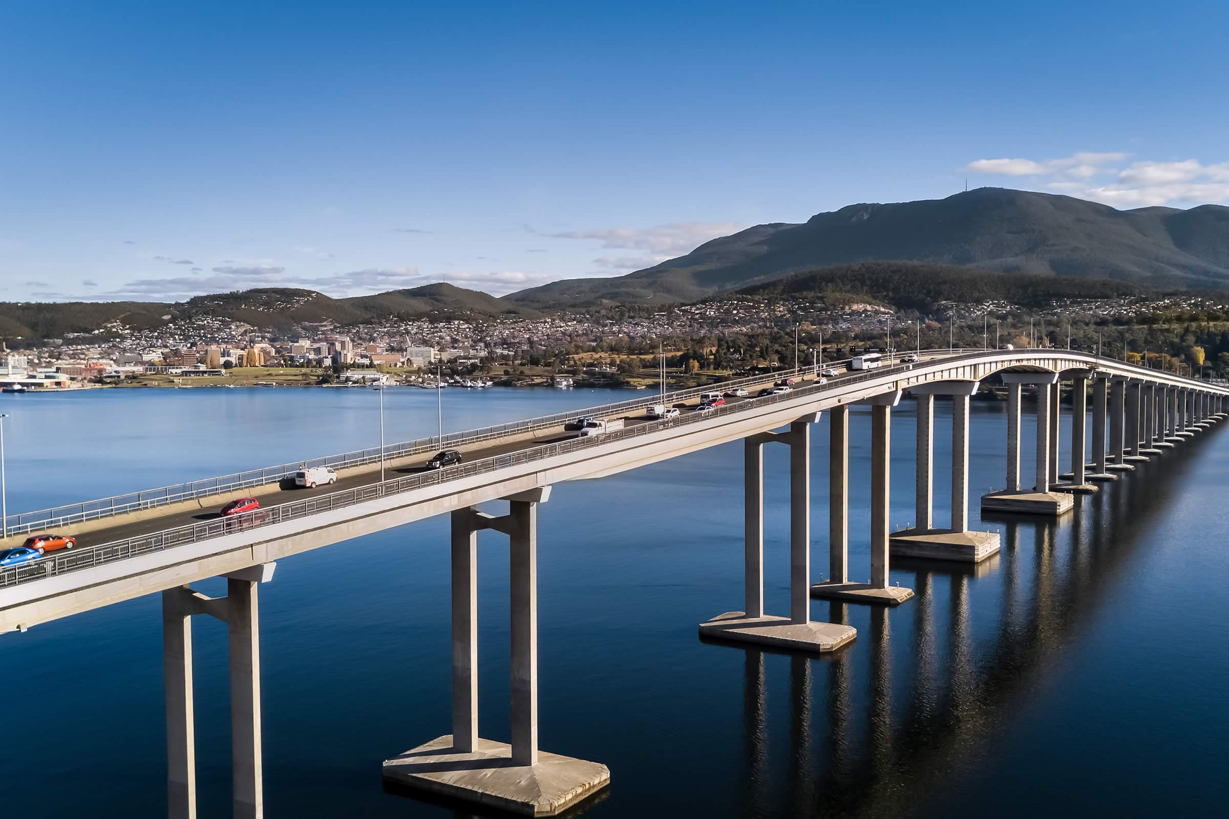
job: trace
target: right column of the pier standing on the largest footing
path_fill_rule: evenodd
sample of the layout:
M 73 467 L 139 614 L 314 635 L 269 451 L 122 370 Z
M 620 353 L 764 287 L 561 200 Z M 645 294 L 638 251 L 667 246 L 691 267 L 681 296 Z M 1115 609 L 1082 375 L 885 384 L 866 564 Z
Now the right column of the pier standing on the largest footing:
M 537 753 L 537 503 L 509 502 L 511 581 L 512 763 L 536 765 Z

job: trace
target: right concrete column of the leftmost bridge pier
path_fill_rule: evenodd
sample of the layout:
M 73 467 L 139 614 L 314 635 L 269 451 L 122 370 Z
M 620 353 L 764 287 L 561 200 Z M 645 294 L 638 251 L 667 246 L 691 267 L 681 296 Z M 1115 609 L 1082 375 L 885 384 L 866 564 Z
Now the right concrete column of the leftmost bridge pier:
M 261 616 L 257 582 L 226 580 L 231 683 L 231 787 L 236 819 L 264 815 L 261 753 Z

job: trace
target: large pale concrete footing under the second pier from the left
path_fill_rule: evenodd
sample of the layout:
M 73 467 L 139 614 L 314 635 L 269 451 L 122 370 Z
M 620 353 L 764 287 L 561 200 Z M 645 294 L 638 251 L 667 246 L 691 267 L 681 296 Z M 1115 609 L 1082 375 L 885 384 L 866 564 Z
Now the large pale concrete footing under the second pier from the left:
M 522 765 L 511 754 L 511 745 L 490 739 L 461 753 L 446 734 L 386 760 L 383 778 L 525 817 L 553 817 L 610 783 L 599 763 L 538 751 L 536 765 Z

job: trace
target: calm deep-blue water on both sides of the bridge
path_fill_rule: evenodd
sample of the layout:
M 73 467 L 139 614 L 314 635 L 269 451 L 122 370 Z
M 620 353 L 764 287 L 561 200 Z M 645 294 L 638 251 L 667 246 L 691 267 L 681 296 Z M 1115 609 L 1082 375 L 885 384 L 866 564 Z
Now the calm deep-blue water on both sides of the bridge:
M 446 430 L 627 398 L 444 394 Z M 374 446 L 375 393 L 5 395 L 10 511 Z M 971 486 L 1003 485 L 1005 419 L 976 403 Z M 936 403 L 935 521 L 949 502 Z M 435 431 L 435 395 L 386 394 L 387 438 Z M 913 511 L 914 415 L 893 410 L 892 519 Z M 1024 424 L 1021 472 L 1031 420 Z M 1064 430 L 1066 436 L 1066 430 Z M 866 553 L 869 415 L 850 421 L 850 560 Z M 815 427 L 812 566 L 826 569 L 827 419 Z M 858 639 L 830 658 L 702 643 L 742 600 L 740 444 L 564 484 L 541 511 L 541 747 L 597 760 L 586 817 L 1153 817 L 1219 813 L 1229 728 L 1229 437 L 1220 429 L 1077 501 L 987 521 L 977 572 L 902 565 L 892 611 L 814 603 Z M 1068 458 L 1064 453 L 1064 469 Z M 766 596 L 788 611 L 784 447 L 766 451 Z M 449 726 L 446 519 L 283 561 L 261 589 L 269 817 L 446 817 L 386 793 L 380 761 Z M 481 732 L 508 728 L 508 549 L 479 546 Z M 206 593 L 221 593 L 204 584 Z M 165 814 L 160 598 L 0 637 L 2 815 Z M 198 618 L 200 815 L 229 815 L 225 626 Z M 16 705 L 14 705 L 16 704 Z

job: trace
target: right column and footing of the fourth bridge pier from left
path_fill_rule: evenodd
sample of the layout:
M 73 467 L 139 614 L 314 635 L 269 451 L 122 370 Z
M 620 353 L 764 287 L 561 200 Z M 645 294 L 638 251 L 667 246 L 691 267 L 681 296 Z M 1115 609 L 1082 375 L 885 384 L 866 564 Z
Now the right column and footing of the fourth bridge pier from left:
M 811 597 L 878 605 L 900 605 L 913 597 L 913 589 L 889 584 L 891 413 L 900 400 L 901 390 L 893 390 L 859 402 L 870 406 L 870 582 L 852 583 L 833 577 L 811 586 Z

